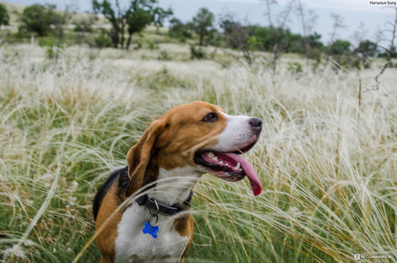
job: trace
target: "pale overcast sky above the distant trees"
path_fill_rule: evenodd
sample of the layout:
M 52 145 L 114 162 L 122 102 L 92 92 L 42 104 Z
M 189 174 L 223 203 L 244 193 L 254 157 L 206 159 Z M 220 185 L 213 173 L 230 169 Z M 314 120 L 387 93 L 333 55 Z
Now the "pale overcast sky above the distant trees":
M 4 0 L 3 0 L 4 1 Z M 347 39 L 354 42 L 354 32 L 364 23 L 368 30 L 366 37 L 374 39 L 375 33 L 379 29 L 385 29 L 387 21 L 393 21 L 395 11 L 392 8 L 384 6 L 370 6 L 368 0 L 301 0 L 306 10 L 314 10 L 318 15 L 314 31 L 322 35 L 322 41 L 329 41 L 332 30 L 331 13 L 339 14 L 343 17 L 347 29 L 339 31 L 339 38 Z M 79 11 L 91 11 L 91 0 L 6 0 L 15 4 L 31 5 L 34 3 L 53 3 L 58 8 L 63 8 L 65 4 L 74 2 L 77 4 Z M 120 0 L 125 5 L 127 0 Z M 266 6 L 260 0 L 158 0 L 162 7 L 172 7 L 175 17 L 182 21 L 189 21 L 197 13 L 198 8 L 206 7 L 211 12 L 218 14 L 229 10 L 238 14 L 239 17 L 247 17 L 251 23 L 267 25 L 267 19 L 264 17 Z M 278 5 L 272 10 L 272 14 L 277 14 L 288 4 L 288 0 L 279 0 Z M 288 27 L 294 33 L 302 33 L 302 25 L 296 15 L 291 16 Z

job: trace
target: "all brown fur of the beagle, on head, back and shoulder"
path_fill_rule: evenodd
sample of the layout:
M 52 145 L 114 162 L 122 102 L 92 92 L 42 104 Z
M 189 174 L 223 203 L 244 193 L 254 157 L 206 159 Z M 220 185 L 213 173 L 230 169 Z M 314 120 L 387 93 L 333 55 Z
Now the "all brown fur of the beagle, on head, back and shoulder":
M 158 168 L 171 170 L 186 165 L 195 166 L 194 154 L 198 149 L 212 148 L 218 144 L 216 135 L 226 127 L 225 117 L 218 111 L 222 108 L 210 103 L 196 101 L 171 108 L 149 128 L 127 153 L 128 175 L 131 179 L 126 196 L 132 195 L 146 184 L 158 178 Z M 216 122 L 202 122 L 209 113 L 218 113 Z M 118 200 L 116 186 L 112 186 L 102 201 L 97 221 L 98 229 L 125 197 Z M 114 242 L 122 211 L 119 211 L 97 237 L 102 255 L 110 255 L 114 260 Z M 181 236 L 189 236 L 189 242 L 180 262 L 183 262 L 187 249 L 193 240 L 193 216 L 175 219 L 175 230 Z M 109 262 L 102 258 L 101 262 Z

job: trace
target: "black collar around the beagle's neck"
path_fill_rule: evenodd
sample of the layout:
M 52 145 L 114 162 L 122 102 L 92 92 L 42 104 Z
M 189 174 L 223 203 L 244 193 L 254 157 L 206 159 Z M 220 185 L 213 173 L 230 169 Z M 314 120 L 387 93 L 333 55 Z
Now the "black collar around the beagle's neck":
M 182 203 L 176 203 L 171 206 L 166 205 L 165 203 L 156 201 L 158 208 L 159 208 L 158 212 L 162 213 L 163 215 L 175 215 L 175 214 L 187 209 L 188 207 L 190 207 L 190 200 L 192 199 L 192 196 L 193 196 L 193 191 L 190 192 L 187 199 L 185 199 Z M 137 203 L 140 206 L 145 205 L 145 207 L 147 207 L 148 209 L 150 209 L 152 211 L 157 210 L 156 203 L 154 203 L 154 199 L 149 198 L 148 195 L 146 195 L 146 194 L 138 197 L 137 199 L 135 199 L 135 201 L 137 201 Z

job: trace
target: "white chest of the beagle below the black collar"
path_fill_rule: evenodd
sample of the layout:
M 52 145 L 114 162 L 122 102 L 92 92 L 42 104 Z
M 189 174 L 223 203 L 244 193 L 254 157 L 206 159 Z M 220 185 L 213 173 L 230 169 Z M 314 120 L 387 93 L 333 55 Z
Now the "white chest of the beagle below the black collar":
M 133 203 L 123 213 L 118 224 L 118 236 L 115 242 L 115 262 L 134 262 L 139 260 L 164 259 L 162 262 L 177 262 L 185 250 L 188 236 L 180 236 L 174 227 L 174 219 L 159 214 L 157 238 L 143 234 L 148 220 L 147 209 Z M 168 260 L 167 260 L 168 259 Z

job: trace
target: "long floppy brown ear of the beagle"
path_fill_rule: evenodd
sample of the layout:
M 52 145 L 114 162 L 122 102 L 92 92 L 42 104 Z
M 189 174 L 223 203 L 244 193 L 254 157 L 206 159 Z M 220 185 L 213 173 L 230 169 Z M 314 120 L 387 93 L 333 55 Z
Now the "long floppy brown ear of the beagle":
M 164 131 L 166 126 L 168 126 L 166 121 L 161 118 L 153 121 L 137 144 L 129 149 L 127 163 L 128 176 L 131 182 L 127 189 L 127 196 L 135 193 L 135 191 L 143 186 L 146 166 L 154 153 L 156 139 Z

